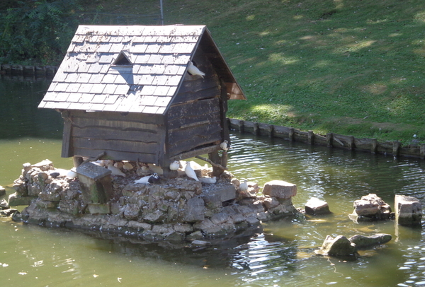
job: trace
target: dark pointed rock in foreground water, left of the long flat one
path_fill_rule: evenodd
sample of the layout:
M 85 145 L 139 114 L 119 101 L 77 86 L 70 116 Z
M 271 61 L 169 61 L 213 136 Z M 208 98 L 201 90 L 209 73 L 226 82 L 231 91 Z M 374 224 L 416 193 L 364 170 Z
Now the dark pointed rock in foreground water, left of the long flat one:
M 327 235 L 319 250 L 314 250 L 316 254 L 331 256 L 350 256 L 356 254 L 356 245 L 351 243 L 344 235 L 332 238 Z

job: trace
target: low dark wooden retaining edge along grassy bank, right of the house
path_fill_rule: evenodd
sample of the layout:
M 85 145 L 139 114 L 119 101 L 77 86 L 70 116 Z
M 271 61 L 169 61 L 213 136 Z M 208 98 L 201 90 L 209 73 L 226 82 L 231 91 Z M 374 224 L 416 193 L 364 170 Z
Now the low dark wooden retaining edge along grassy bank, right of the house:
M 334 148 L 347 148 L 350 150 L 370 151 L 371 153 L 384 153 L 392 156 L 410 156 L 425 159 L 425 144 L 420 146 L 401 146 L 399 141 L 379 142 L 376 139 L 358 139 L 354 136 L 329 133 L 326 136 L 314 134 L 313 131 L 300 131 L 291 127 L 281 127 L 273 124 L 227 119 L 231 129 L 239 132 L 300 141 L 307 144 L 318 144 Z

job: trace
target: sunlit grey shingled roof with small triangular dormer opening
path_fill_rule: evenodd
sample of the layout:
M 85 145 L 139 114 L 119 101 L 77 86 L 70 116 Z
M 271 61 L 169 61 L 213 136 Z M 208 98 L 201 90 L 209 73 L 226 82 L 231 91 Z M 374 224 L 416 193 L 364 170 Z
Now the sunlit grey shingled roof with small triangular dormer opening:
M 204 25 L 80 25 L 38 107 L 162 115 L 202 38 L 229 98 L 244 99 Z

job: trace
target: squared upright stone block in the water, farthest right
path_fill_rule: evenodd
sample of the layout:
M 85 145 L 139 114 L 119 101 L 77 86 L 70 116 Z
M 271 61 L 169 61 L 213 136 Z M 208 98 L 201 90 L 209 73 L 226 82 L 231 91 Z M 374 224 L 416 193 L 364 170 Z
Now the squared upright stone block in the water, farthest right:
M 422 205 L 415 197 L 395 195 L 395 220 L 399 225 L 421 225 Z

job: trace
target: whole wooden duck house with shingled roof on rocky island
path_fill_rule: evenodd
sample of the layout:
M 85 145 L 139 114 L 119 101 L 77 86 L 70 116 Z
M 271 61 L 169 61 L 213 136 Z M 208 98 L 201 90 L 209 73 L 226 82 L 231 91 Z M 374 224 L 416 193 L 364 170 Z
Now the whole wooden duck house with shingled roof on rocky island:
M 39 107 L 62 113 L 62 157 L 168 167 L 229 140 L 229 99 L 245 96 L 205 26 L 81 25 Z

